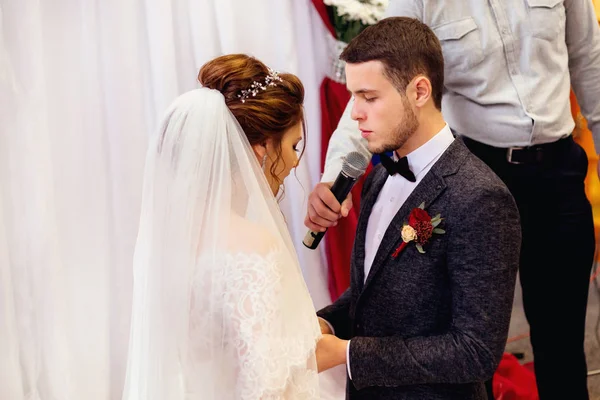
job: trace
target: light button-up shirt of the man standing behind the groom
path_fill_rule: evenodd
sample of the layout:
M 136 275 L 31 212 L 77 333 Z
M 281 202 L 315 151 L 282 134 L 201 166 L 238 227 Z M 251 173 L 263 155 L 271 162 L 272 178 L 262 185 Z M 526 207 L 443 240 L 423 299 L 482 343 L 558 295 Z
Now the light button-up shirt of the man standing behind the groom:
M 600 27 L 591 0 L 390 0 L 386 14 L 419 19 L 439 38 L 442 113 L 456 133 L 504 148 L 554 142 L 575 126 L 572 85 L 600 152 Z M 351 107 L 330 139 L 324 182 L 348 152 L 370 157 Z

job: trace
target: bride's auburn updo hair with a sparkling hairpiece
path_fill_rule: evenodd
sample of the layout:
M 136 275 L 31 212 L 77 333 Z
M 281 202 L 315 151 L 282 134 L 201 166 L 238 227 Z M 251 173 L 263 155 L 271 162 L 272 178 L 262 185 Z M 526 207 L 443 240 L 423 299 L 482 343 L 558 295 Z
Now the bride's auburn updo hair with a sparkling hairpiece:
M 304 86 L 300 79 L 293 74 L 279 74 L 254 57 L 230 54 L 204 64 L 198 80 L 202 86 L 223 94 L 251 145 L 264 145 L 272 139 L 277 158 L 270 173 L 277 179 L 283 134 L 304 120 Z

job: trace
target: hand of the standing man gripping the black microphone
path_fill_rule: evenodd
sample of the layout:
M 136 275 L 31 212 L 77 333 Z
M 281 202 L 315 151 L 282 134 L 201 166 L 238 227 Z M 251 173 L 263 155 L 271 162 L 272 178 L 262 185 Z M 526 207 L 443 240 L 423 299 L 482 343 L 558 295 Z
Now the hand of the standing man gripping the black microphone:
M 332 182 L 321 182 L 308 196 L 308 212 L 304 225 L 313 232 L 324 232 L 337 225 L 342 217 L 347 217 L 352 209 L 352 193 L 340 204 L 331 192 Z

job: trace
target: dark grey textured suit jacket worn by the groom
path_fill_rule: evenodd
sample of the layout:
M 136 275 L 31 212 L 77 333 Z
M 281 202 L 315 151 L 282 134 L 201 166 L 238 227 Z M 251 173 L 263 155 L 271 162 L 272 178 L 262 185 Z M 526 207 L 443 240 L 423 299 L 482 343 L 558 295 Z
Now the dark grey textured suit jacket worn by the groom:
M 486 399 L 510 322 L 521 228 L 504 183 L 455 140 L 392 220 L 364 282 L 365 233 L 387 171 L 367 177 L 350 288 L 318 314 L 351 339 L 347 397 Z M 397 258 L 410 211 L 425 203 L 440 228 L 425 254 L 409 243 Z

